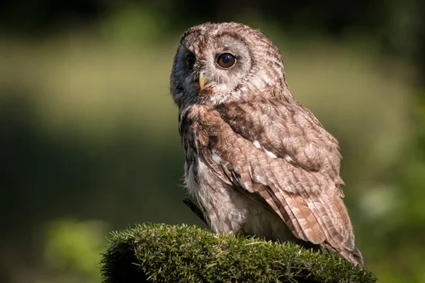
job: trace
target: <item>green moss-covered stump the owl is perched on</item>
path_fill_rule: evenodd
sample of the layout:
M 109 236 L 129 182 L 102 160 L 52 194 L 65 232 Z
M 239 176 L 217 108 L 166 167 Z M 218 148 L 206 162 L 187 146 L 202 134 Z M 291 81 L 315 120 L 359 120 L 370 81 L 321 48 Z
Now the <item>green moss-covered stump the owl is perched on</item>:
M 101 272 L 105 283 L 377 280 L 335 254 L 164 224 L 142 224 L 113 233 Z

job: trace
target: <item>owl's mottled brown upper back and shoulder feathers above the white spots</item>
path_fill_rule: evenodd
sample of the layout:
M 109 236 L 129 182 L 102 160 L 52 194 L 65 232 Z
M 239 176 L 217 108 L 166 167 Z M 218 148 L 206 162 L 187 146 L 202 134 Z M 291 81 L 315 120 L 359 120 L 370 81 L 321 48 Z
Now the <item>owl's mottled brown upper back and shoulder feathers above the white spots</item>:
M 284 158 L 307 171 L 325 170 L 339 179 L 338 141 L 302 105 L 258 99 L 256 103 L 223 103 L 217 110 L 234 132 L 271 156 Z

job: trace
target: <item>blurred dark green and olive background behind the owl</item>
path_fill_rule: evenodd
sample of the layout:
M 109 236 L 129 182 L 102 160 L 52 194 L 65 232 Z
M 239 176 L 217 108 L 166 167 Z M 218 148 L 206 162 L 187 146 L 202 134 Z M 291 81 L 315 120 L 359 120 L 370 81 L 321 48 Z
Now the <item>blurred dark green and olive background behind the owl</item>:
M 261 28 L 339 139 L 346 204 L 380 282 L 425 282 L 425 2 L 0 4 L 0 282 L 100 282 L 110 231 L 198 224 L 169 96 L 181 34 Z

